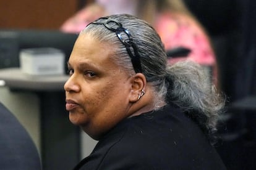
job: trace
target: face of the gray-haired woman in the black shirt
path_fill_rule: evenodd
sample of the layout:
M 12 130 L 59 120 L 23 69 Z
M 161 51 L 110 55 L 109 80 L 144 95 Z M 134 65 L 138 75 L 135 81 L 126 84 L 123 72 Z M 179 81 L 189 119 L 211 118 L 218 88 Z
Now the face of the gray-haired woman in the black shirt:
M 80 34 L 68 62 L 64 89 L 69 119 L 94 139 L 129 116 L 130 76 L 113 62 L 112 50 Z

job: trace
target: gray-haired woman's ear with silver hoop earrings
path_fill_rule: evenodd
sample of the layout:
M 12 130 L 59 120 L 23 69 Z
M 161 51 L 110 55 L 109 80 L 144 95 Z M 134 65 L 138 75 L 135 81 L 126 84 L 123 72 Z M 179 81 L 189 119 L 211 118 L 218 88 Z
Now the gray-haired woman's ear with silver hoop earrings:
M 137 73 L 131 77 L 131 84 L 129 101 L 134 103 L 145 93 L 147 79 L 142 73 Z

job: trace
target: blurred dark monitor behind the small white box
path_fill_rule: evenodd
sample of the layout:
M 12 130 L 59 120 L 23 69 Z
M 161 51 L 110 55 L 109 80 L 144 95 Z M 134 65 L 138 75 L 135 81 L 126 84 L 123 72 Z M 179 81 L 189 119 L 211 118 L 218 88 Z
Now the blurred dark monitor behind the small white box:
M 19 51 L 37 47 L 61 49 L 66 63 L 77 36 L 58 30 L 0 30 L 0 68 L 19 67 Z

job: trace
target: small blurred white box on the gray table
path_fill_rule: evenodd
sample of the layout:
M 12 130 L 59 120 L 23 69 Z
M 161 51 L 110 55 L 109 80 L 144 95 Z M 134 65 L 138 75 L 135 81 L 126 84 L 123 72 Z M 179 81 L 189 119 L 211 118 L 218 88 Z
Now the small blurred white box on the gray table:
M 22 49 L 20 68 L 29 75 L 64 75 L 65 54 L 59 49 L 41 47 Z

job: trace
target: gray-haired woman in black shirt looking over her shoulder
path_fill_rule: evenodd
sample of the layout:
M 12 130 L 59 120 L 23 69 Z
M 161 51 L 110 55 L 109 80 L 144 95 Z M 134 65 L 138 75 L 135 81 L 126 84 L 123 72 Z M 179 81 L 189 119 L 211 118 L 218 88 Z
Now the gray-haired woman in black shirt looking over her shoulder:
M 168 67 L 147 22 L 90 23 L 68 67 L 69 119 L 99 140 L 75 169 L 225 169 L 210 144 L 224 100 L 196 63 Z

